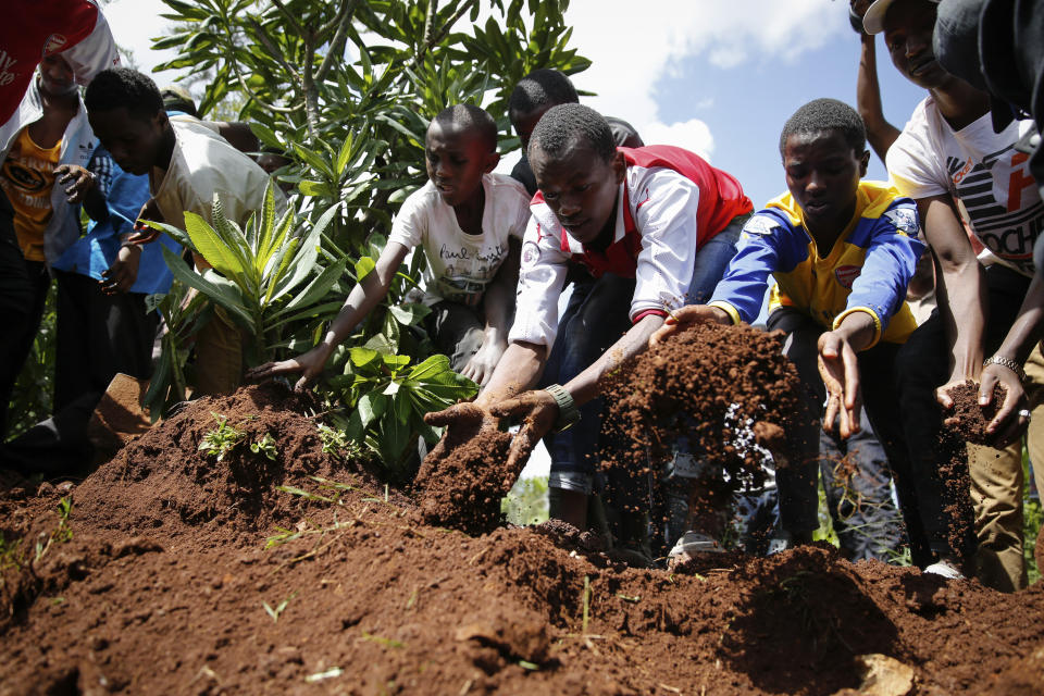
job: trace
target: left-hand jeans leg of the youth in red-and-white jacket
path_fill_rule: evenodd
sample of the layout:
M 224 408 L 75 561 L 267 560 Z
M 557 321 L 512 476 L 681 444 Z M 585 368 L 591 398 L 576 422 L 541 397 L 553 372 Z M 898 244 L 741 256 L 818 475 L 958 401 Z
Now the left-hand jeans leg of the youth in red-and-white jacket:
M 610 273 L 596 281 L 574 283 L 540 385 L 569 382 L 619 340 L 631 327 L 627 309 L 633 296 L 634 279 Z M 544 438 L 551 459 L 548 486 L 564 492 L 549 498 L 550 513 L 556 519 L 571 521 L 586 517 L 586 496 L 594 483 L 593 458 L 601 431 L 601 408 L 600 398 L 585 403 L 580 408 L 581 418 L 575 425 Z M 581 508 L 584 514 L 580 513 Z

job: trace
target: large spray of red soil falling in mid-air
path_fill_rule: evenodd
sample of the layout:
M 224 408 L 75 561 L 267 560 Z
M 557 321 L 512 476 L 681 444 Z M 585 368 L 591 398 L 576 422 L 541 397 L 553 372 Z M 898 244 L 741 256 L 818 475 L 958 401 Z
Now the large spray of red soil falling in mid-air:
M 621 369 L 607 391 L 601 465 L 642 488 L 679 449 L 692 453 L 708 483 L 730 490 L 760 485 L 767 450 L 786 465 L 795 446 L 790 427 L 803 413 L 783 335 L 747 325 L 696 324 Z M 722 472 L 725 476 L 722 476 Z M 652 476 L 654 487 L 659 476 Z M 706 485 L 720 490 L 721 485 Z M 725 492 L 728 493 L 728 492 Z M 719 507 L 728 495 L 703 501 Z M 691 506 L 699 507 L 698 500 Z

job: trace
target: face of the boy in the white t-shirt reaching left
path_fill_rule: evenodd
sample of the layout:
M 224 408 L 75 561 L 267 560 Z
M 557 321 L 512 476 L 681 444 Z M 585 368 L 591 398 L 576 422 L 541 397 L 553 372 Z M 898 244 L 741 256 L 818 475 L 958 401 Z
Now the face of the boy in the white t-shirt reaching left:
M 432 122 L 424 139 L 427 178 L 449 206 L 474 196 L 482 175 L 493 171 L 500 156 L 490 152 L 477 128 Z

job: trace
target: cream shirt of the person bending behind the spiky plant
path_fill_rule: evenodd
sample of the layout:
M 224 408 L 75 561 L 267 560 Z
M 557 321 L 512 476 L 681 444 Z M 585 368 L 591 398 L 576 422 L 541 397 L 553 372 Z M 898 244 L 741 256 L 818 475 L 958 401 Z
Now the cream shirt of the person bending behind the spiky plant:
M 268 173 L 197 121 L 171 119 L 171 126 L 177 138 L 171 166 L 149 175 L 149 190 L 164 222 L 184 229 L 185 211 L 190 211 L 212 225 L 216 192 L 225 220 L 244 227 L 250 213 L 264 204 Z M 274 192 L 276 208 L 284 208 L 283 191 L 276 187 Z

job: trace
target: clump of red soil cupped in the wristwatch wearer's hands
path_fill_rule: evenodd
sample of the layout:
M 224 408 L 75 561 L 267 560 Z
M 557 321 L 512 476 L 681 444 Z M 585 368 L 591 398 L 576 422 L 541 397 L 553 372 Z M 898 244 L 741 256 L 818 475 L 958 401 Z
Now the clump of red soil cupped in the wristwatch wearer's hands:
M 417 474 L 422 519 L 469 534 L 501 526 L 500 500 L 521 473 L 507 470 L 510 447 L 511 435 L 495 427 L 449 428 Z

